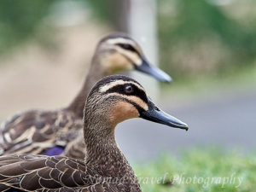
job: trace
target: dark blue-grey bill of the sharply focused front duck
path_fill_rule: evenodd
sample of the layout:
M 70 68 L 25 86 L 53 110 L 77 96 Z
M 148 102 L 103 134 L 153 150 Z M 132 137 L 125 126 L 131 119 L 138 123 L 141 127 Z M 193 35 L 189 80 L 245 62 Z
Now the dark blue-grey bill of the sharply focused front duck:
M 157 108 L 150 100 L 148 102 L 148 110 L 140 113 L 140 117 L 155 123 L 168 125 L 174 128 L 180 128 L 186 131 L 189 130 L 189 126 L 187 124 L 183 123 L 181 120 L 175 117 L 172 117 L 172 115 L 162 111 L 160 108 Z

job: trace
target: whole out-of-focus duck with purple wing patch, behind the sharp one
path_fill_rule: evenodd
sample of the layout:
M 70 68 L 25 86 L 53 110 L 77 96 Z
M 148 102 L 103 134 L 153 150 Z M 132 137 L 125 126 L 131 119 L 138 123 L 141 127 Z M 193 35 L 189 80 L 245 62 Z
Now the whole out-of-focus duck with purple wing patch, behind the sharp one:
M 105 76 L 137 70 L 162 82 L 172 78 L 151 65 L 139 44 L 127 34 L 113 32 L 96 46 L 84 84 L 67 107 L 16 113 L 0 127 L 0 155 L 64 154 L 84 158 L 83 109 L 91 87 Z

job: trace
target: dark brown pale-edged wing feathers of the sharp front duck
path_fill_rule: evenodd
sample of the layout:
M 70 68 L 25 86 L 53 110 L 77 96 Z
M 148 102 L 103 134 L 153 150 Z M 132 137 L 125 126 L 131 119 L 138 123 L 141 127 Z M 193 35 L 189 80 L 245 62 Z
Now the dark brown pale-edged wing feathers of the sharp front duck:
M 83 161 L 63 156 L 10 155 L 0 157 L 0 191 L 119 191 L 102 182 Z

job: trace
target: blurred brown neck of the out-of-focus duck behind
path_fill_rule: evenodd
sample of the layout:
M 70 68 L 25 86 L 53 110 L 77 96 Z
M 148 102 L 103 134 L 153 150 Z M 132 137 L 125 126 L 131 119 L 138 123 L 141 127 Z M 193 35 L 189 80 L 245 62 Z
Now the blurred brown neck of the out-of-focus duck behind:
M 96 55 L 93 56 L 90 69 L 84 79 L 84 84 L 79 91 L 79 94 L 73 99 L 73 102 L 69 104 L 67 110 L 72 111 L 75 113 L 79 118 L 83 118 L 84 115 L 84 101 L 88 94 L 90 93 L 90 89 L 99 79 L 102 77 L 107 76 L 108 74 L 104 73 L 104 70 L 101 67 L 102 59 L 97 57 Z

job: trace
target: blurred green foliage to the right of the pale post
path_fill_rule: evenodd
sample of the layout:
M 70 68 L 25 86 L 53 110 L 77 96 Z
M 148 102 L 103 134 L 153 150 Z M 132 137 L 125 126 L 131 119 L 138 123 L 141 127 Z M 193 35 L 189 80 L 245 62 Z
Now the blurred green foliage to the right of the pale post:
M 256 48 L 254 25 L 243 25 L 207 0 L 158 3 L 160 63 L 175 78 L 252 63 L 249 61 L 255 58 Z M 247 17 L 255 21 L 251 15 Z

